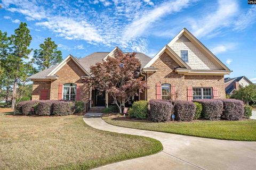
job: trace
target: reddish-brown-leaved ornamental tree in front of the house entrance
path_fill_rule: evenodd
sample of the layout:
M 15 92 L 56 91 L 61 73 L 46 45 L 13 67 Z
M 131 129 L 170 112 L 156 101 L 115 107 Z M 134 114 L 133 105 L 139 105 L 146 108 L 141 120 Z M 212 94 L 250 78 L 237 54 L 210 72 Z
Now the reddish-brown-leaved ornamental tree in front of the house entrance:
M 115 53 L 113 57 L 96 63 L 90 69 L 91 76 L 85 82 L 112 96 L 119 113 L 122 113 L 122 107 L 132 96 L 138 96 L 138 92 L 146 88 L 146 81 L 140 77 L 141 63 L 135 58 L 135 53 Z

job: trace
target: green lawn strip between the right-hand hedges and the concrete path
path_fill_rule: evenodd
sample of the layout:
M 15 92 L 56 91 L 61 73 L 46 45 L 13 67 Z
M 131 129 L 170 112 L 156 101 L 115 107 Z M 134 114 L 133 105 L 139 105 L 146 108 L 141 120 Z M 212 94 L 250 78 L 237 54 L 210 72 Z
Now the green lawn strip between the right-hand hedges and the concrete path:
M 256 120 L 243 121 L 193 121 L 153 123 L 135 121 L 121 115 L 105 115 L 104 121 L 126 128 L 191 135 L 195 137 L 256 141 Z

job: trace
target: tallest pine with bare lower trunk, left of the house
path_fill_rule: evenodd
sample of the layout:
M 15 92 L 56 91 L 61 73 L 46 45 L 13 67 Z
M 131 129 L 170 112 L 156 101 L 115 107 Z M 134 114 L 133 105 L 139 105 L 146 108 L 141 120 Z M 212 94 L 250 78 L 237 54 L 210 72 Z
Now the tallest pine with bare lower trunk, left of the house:
M 27 24 L 21 22 L 18 29 L 15 29 L 14 35 L 11 36 L 11 49 L 12 53 L 7 56 L 6 63 L 9 64 L 10 74 L 13 80 L 13 92 L 12 92 L 12 108 L 14 109 L 16 103 L 17 86 L 20 81 L 24 81 L 30 73 L 32 68 L 32 62 L 25 62 L 28 60 L 28 55 L 31 52 L 29 49 L 30 42 L 32 40 L 30 31 L 27 28 Z

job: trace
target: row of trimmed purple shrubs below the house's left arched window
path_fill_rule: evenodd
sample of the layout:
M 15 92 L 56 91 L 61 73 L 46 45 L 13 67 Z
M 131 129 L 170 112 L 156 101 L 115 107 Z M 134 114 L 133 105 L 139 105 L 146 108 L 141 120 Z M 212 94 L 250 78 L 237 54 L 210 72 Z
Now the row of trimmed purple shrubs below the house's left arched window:
M 62 116 L 83 112 L 84 108 L 82 101 L 30 100 L 20 102 L 15 111 L 24 115 Z

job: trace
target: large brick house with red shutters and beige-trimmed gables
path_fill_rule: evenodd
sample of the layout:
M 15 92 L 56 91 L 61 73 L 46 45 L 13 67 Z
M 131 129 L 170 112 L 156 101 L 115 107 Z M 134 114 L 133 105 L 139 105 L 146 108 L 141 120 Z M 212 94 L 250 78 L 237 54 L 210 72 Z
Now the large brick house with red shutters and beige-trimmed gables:
M 82 100 L 90 106 L 108 107 L 113 104 L 111 97 L 90 89 L 83 79 L 90 76 L 91 65 L 117 50 L 121 51 L 116 47 L 110 53 L 92 53 L 79 60 L 69 55 L 60 64 L 32 75 L 32 99 Z M 132 100 L 169 99 L 175 92 L 181 100 L 225 98 L 224 75 L 231 71 L 186 28 L 153 58 L 142 53 L 136 57 L 148 88 Z

